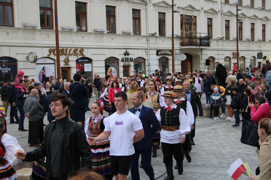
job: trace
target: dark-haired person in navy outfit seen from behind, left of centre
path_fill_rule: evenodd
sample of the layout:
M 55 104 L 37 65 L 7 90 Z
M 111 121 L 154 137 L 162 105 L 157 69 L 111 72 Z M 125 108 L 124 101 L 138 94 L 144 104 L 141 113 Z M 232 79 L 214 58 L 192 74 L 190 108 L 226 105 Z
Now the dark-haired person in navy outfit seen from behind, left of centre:
M 73 76 L 75 82 L 70 84 L 70 99 L 74 102 L 70 107 L 70 118 L 80 125 L 85 123 L 86 98 L 88 97 L 85 85 L 80 84 L 81 78 L 80 74 L 75 73 Z

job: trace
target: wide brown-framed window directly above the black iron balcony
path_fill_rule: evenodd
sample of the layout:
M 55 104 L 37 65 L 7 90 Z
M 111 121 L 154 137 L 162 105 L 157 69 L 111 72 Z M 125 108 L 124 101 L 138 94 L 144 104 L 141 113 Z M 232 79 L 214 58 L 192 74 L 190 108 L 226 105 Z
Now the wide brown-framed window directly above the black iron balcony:
M 196 36 L 197 21 L 196 16 L 181 15 L 181 36 Z

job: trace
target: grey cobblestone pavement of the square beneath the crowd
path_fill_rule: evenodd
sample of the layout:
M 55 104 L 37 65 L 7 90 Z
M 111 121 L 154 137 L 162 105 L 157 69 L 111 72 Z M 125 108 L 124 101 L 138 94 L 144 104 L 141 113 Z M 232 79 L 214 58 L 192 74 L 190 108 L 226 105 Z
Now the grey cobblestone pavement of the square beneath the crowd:
M 94 100 L 95 99 L 92 98 L 89 104 L 91 105 Z M 206 102 L 205 95 L 202 96 L 201 101 L 204 110 L 204 117 L 196 118 L 196 135 L 194 138 L 196 145 L 192 146 L 192 151 L 190 152 L 192 162 L 188 163 L 185 158 L 183 174 L 178 175 L 178 171 L 174 169 L 175 179 L 231 179 L 230 175 L 227 174 L 227 170 L 238 158 L 241 158 L 243 162 L 249 162 L 252 172 L 255 173 L 255 169 L 259 166 L 259 158 L 255 152 L 256 147 L 251 147 L 240 142 L 241 127 L 231 127 L 231 125 L 234 124 L 234 121 L 228 121 L 225 120 L 225 118 L 220 118 L 218 120 L 209 118 L 210 106 L 204 106 Z M 86 113 L 86 119 L 91 115 L 91 111 Z M 108 116 L 108 113 L 105 112 L 105 116 Z M 28 132 L 18 131 L 18 124 L 9 124 L 9 120 L 7 123 L 8 133 L 17 138 L 19 144 L 25 151 L 35 149 L 34 147 L 28 147 Z M 46 116 L 44 118 L 44 124 L 48 124 Z M 27 118 L 25 119 L 24 126 L 28 129 Z M 140 160 L 141 159 L 139 159 L 139 164 Z M 175 160 L 173 161 L 173 166 L 175 166 L 176 162 Z M 155 178 L 163 180 L 166 177 L 166 168 L 163 163 L 161 147 L 157 150 L 157 157 L 152 158 L 152 165 Z M 24 167 L 32 167 L 32 164 L 29 162 L 22 162 L 14 168 L 21 169 Z M 143 169 L 139 169 L 139 172 L 141 180 L 149 179 Z M 131 175 L 128 179 L 131 179 Z M 248 178 L 243 175 L 240 179 Z

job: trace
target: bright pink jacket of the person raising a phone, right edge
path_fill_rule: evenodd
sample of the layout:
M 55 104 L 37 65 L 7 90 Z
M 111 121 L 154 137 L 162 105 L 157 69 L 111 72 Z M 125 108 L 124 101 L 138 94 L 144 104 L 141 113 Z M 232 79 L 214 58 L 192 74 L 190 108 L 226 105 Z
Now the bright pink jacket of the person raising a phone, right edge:
M 250 114 L 251 114 L 251 119 L 254 121 L 254 122 L 259 122 L 260 119 L 262 118 L 270 118 L 271 116 L 271 107 L 269 106 L 268 103 L 263 103 L 259 106 L 259 108 L 255 109 L 255 106 L 251 106 L 250 107 Z

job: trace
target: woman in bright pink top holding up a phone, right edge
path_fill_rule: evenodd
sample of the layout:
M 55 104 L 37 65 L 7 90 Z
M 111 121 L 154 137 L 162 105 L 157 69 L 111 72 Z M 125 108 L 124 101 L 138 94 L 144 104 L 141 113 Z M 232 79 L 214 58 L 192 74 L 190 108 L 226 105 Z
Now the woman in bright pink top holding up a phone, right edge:
M 263 103 L 259 106 L 259 102 L 256 101 L 255 102 L 255 106 L 259 106 L 257 111 L 255 109 L 255 106 L 254 104 L 250 104 L 249 103 L 249 107 L 251 109 L 250 111 L 250 114 L 251 114 L 251 119 L 254 121 L 254 122 L 258 122 L 262 119 L 262 118 L 270 118 L 271 116 L 271 107 L 270 107 L 270 104 L 271 104 L 271 92 L 267 92 L 265 93 L 264 95 L 264 98 L 266 99 L 266 103 Z

